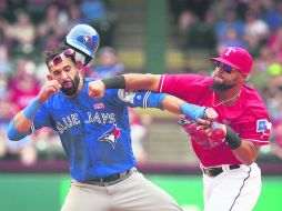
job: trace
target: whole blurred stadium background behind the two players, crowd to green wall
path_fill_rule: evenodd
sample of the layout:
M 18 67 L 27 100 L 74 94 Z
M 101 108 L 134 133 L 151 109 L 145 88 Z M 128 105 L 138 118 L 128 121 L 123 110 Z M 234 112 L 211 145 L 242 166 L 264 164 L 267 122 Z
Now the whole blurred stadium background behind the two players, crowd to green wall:
M 125 67 L 125 72 L 210 74 L 213 64 L 207 58 L 216 54 L 222 46 L 232 43 L 248 48 L 255 58 L 255 68 L 249 82 L 256 86 L 261 92 L 275 129 L 271 144 L 262 148 L 258 160 L 262 168 L 263 189 L 255 211 L 281 210 L 282 38 L 279 29 L 282 24 L 282 6 L 280 1 L 72 0 L 64 2 L 58 0 L 51 3 L 57 8 L 53 13 L 57 10 L 58 17 L 48 14 L 47 8 L 50 8 L 50 2 L 47 0 L 0 1 L 0 210 L 52 211 L 59 210 L 63 201 L 69 185 L 68 163 L 57 138 L 49 131 L 47 131 L 48 135 L 31 137 L 31 140 L 27 141 L 31 142 L 32 149 L 36 150 L 33 157 L 36 159 L 31 162 L 32 158 L 29 155 L 34 151 L 28 151 L 27 158 L 22 159 L 24 143 L 9 145 L 6 142 L 4 131 L 9 122 L 8 110 L 17 107 L 17 102 L 14 107 L 9 96 L 12 88 L 10 82 L 17 81 L 14 78 L 20 72 L 34 78 L 39 84 L 43 82 L 47 70 L 42 64 L 41 52 L 48 44 L 62 41 L 70 27 L 78 22 L 87 22 L 97 28 L 101 36 L 101 48 L 113 47 L 120 62 Z M 79 16 L 70 18 L 73 8 L 84 11 L 85 6 L 93 7 L 92 12 L 90 10 L 84 14 L 82 12 L 80 18 Z M 266 32 L 260 36 L 256 43 L 252 42 L 254 40 L 252 33 L 241 34 L 240 29 L 235 37 L 233 33 L 231 40 L 216 33 L 216 26 L 224 22 L 224 14 L 231 11 L 235 12 L 235 21 L 241 21 L 248 28 L 245 16 L 250 10 L 251 13 L 255 13 L 256 20 L 262 20 L 268 26 Z M 30 36 L 32 30 L 31 32 L 12 30 L 19 27 L 18 18 L 22 17 L 23 12 L 30 17 L 33 37 Z M 50 21 L 48 16 L 53 16 L 53 20 L 57 20 L 54 28 L 46 24 Z M 48 27 L 51 29 L 47 32 Z M 23 38 L 31 37 L 31 39 L 17 37 L 19 33 Z M 93 67 L 99 64 L 97 59 Z M 94 68 L 85 71 L 94 71 Z M 178 117 L 158 110 L 137 110 L 137 112 L 145 120 L 150 119 L 148 134 L 142 142 L 148 155 L 145 161 L 139 163 L 139 169 L 151 181 L 168 190 L 187 211 L 202 210 L 199 163 L 191 151 L 187 135 L 177 125 Z

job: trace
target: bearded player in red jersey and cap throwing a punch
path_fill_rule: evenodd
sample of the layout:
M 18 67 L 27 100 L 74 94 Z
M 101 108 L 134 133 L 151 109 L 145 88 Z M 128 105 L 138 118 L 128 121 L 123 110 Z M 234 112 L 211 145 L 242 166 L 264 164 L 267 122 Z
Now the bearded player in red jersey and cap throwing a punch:
M 203 172 L 204 211 L 252 210 L 261 192 L 259 149 L 268 144 L 271 122 L 255 89 L 245 84 L 253 59 L 243 48 L 228 47 L 213 77 L 197 74 L 124 74 L 89 84 L 92 98 L 105 89 L 151 90 L 211 107 L 216 122 L 180 120 L 190 134 Z

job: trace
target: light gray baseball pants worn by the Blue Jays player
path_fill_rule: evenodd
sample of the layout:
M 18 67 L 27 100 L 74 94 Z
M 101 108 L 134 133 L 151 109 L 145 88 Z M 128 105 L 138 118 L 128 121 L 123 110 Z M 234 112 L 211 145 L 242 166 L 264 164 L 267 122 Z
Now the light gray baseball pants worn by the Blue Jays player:
M 61 211 L 180 211 L 175 200 L 141 173 L 99 187 L 72 182 Z

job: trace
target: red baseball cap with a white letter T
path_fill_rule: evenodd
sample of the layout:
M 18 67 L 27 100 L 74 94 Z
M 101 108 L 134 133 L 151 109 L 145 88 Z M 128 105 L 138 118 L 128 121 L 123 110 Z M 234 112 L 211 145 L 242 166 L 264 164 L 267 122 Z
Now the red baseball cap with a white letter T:
M 250 73 L 253 66 L 252 56 L 245 49 L 240 47 L 226 47 L 219 58 L 210 59 L 229 64 L 244 73 Z

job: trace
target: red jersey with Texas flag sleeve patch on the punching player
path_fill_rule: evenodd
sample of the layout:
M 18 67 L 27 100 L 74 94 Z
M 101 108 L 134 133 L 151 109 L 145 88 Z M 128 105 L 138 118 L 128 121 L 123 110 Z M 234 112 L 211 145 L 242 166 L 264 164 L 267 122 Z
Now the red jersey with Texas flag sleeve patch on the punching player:
M 213 108 L 218 122 L 231 127 L 242 139 L 263 145 L 269 143 L 271 123 L 266 107 L 258 92 L 244 84 L 233 105 L 219 103 L 216 92 L 211 90 L 212 77 L 197 74 L 164 74 L 159 83 L 159 92 L 175 96 L 189 103 Z M 204 167 L 241 164 L 225 142 L 204 149 L 191 140 L 193 149 Z

